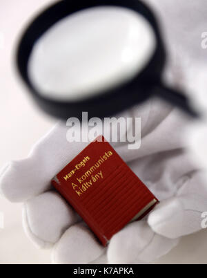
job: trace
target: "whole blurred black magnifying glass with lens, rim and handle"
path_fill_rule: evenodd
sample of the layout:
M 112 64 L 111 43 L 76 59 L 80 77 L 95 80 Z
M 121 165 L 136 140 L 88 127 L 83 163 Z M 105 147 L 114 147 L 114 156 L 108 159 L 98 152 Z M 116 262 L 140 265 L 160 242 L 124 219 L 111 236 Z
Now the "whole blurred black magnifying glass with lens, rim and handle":
M 34 100 L 57 118 L 104 118 L 156 95 L 198 114 L 161 74 L 166 51 L 157 21 L 138 0 L 60 1 L 27 28 L 17 66 Z

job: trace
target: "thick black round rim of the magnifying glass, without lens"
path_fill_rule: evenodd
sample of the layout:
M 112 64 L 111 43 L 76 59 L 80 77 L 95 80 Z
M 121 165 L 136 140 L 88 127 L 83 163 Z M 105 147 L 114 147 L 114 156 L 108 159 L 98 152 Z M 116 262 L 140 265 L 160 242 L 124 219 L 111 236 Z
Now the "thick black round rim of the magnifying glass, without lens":
M 32 53 L 32 48 L 36 41 L 46 31 L 56 24 L 59 20 L 72 15 L 75 12 L 87 8 L 99 6 L 119 6 L 134 10 L 143 15 L 154 30 L 157 38 L 157 46 L 150 62 L 144 70 L 139 72 L 129 82 L 99 93 L 97 96 L 90 97 L 86 100 L 75 102 L 57 101 L 43 97 L 37 89 L 34 88 L 28 77 L 28 61 Z M 104 118 L 123 111 L 138 102 L 148 99 L 152 93 L 152 87 L 159 82 L 161 72 L 166 61 L 166 53 L 163 41 L 159 33 L 159 27 L 155 16 L 146 4 L 138 0 L 77 0 L 77 1 L 60 1 L 53 4 L 41 13 L 27 28 L 21 37 L 17 48 L 17 68 L 19 73 L 34 100 L 39 104 L 41 109 L 52 116 L 61 119 L 70 117 L 82 118 L 82 112 L 88 111 L 88 116 Z M 139 93 L 141 91 L 142 93 Z

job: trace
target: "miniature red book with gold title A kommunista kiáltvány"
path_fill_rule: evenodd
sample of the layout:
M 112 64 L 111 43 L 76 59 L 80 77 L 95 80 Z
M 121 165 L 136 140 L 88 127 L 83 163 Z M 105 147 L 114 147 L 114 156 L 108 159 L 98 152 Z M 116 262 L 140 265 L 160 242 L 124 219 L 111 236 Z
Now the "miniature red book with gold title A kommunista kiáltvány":
M 159 202 L 115 149 L 90 143 L 52 180 L 103 245 Z

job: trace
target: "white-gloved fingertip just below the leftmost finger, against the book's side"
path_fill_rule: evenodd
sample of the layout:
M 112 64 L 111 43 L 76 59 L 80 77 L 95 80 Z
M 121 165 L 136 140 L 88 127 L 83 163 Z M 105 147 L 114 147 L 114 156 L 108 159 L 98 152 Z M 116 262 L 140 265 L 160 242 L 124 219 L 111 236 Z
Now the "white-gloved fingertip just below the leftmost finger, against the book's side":
M 63 233 L 79 221 L 75 210 L 55 191 L 27 201 L 23 214 L 28 237 L 41 248 L 55 245 Z

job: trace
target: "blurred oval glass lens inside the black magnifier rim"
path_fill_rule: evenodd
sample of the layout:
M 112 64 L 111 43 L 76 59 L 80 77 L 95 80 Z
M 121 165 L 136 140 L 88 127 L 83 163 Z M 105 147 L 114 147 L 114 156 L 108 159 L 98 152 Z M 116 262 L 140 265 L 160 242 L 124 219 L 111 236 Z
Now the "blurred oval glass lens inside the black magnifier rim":
M 43 97 L 84 100 L 135 78 L 156 44 L 141 14 L 117 6 L 88 8 L 61 19 L 37 40 L 28 76 Z

